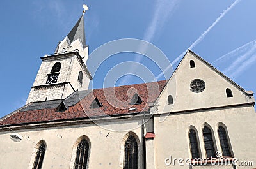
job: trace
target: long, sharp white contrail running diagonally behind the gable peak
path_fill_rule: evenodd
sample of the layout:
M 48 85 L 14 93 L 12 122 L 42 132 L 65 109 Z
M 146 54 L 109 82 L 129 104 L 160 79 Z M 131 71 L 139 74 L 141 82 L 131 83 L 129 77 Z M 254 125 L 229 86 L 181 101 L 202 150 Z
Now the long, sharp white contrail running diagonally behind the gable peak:
M 204 33 L 202 33 L 199 38 L 197 38 L 184 52 L 182 52 L 182 54 L 179 55 L 179 57 L 177 57 L 173 62 L 172 65 L 175 64 L 177 61 L 180 60 L 181 57 L 184 56 L 184 54 L 186 54 L 186 51 L 188 49 L 192 49 L 193 47 L 195 47 L 198 43 L 200 43 L 200 41 L 204 40 L 204 37 L 209 33 L 209 31 L 211 31 L 211 29 L 218 24 L 218 22 L 220 22 L 221 18 L 223 18 L 228 11 L 232 10 L 232 8 L 234 8 L 234 6 L 236 6 L 237 3 L 239 3 L 241 0 L 236 0 L 234 1 L 234 3 L 232 3 L 226 10 L 223 11 L 223 13 L 221 13 L 220 17 L 218 17 L 212 24 L 211 26 L 209 26 L 206 31 L 204 31 Z M 157 79 L 160 78 L 172 65 L 168 66 L 162 73 L 160 73 L 159 75 L 157 75 Z

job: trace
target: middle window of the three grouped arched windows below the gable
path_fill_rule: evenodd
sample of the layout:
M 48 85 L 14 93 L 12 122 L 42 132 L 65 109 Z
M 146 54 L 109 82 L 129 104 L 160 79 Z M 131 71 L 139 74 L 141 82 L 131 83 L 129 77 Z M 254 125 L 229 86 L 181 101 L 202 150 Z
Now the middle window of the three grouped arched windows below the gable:
M 216 158 L 214 143 L 212 139 L 212 132 L 207 126 L 203 129 L 203 136 L 204 136 L 204 146 L 206 151 L 207 158 Z

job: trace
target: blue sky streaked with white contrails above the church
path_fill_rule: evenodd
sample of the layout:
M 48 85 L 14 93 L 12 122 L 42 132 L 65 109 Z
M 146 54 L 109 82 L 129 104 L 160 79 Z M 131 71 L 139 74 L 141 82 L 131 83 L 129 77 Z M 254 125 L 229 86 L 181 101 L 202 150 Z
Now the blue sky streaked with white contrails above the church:
M 1 1 L 0 116 L 24 105 L 40 57 L 53 54 L 58 41 L 81 16 L 84 3 L 90 9 L 85 15 L 90 53 L 108 41 L 137 38 L 160 48 L 175 68 L 184 51 L 191 48 L 244 89 L 256 91 L 255 0 Z M 89 70 L 93 59 L 97 58 L 87 62 Z M 126 61 L 140 62 L 163 80 L 154 62 L 122 53 L 100 66 L 93 88 L 102 87 L 106 72 Z M 140 66 L 130 66 L 127 71 L 131 70 L 136 74 Z M 127 75 L 115 85 L 140 82 L 143 80 Z

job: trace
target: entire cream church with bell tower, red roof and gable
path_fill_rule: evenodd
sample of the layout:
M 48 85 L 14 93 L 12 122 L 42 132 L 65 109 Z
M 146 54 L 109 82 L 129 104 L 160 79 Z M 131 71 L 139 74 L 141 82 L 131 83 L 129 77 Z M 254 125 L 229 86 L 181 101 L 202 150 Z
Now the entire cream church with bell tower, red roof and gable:
M 168 80 L 89 89 L 88 55 L 83 13 L 0 119 L 0 168 L 256 168 L 253 92 L 202 57 L 188 50 Z

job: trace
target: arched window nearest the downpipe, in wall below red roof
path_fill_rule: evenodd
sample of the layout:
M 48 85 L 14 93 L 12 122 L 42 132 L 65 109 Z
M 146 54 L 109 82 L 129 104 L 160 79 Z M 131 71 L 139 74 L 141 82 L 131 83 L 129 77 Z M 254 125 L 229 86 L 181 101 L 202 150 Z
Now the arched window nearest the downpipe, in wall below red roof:
M 138 143 L 134 136 L 130 135 L 125 141 L 124 169 L 138 168 Z

